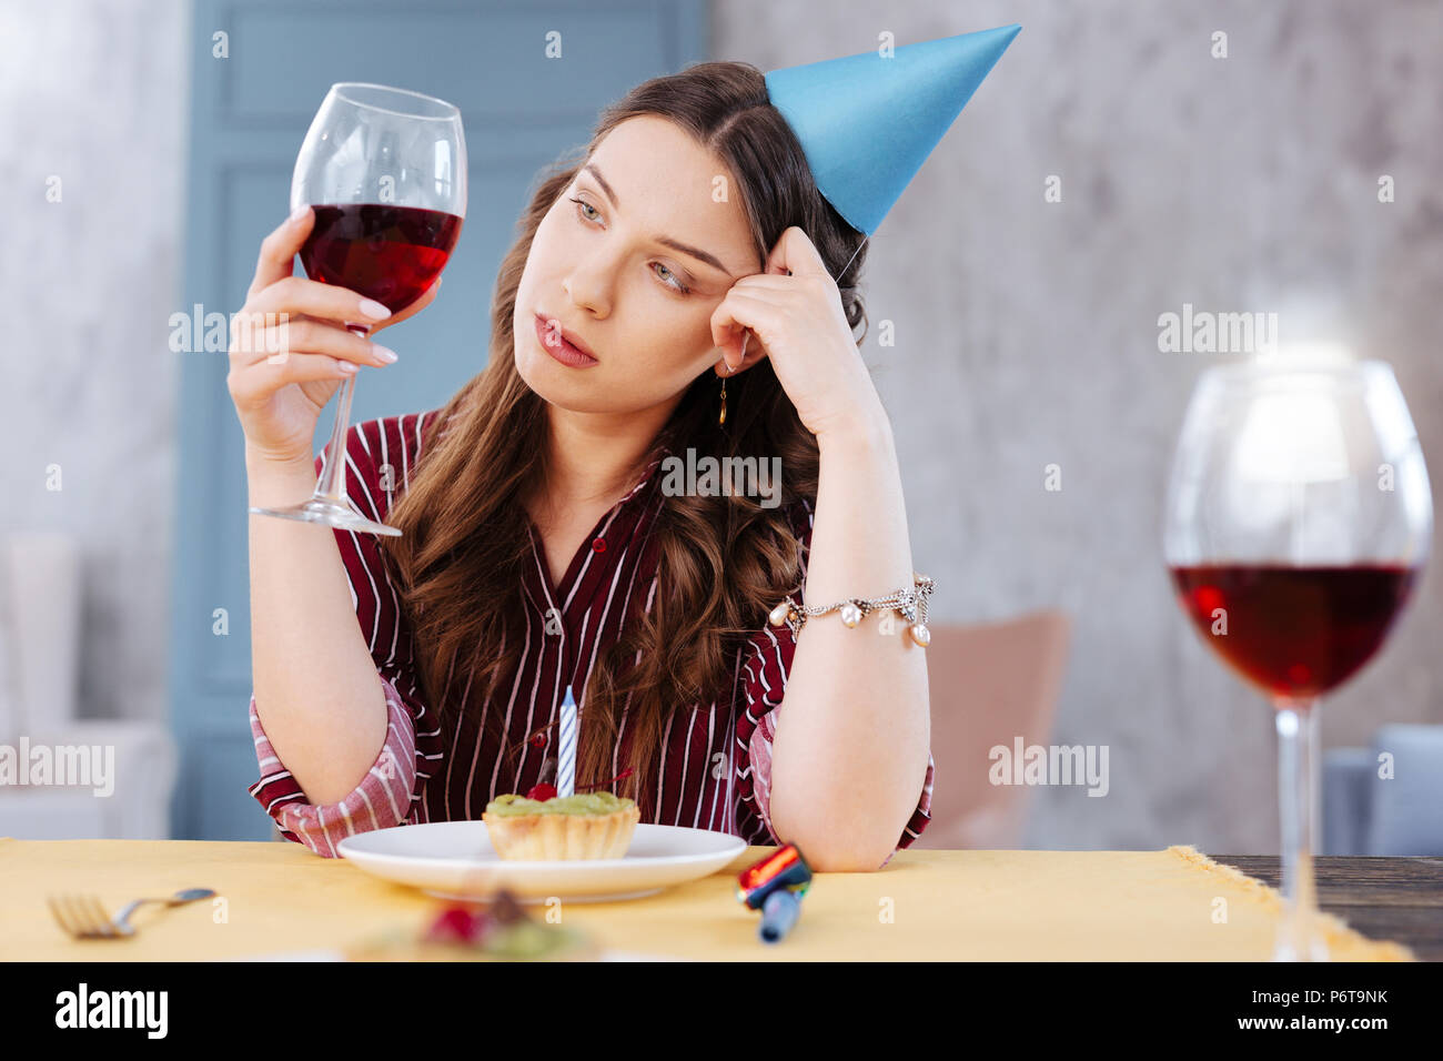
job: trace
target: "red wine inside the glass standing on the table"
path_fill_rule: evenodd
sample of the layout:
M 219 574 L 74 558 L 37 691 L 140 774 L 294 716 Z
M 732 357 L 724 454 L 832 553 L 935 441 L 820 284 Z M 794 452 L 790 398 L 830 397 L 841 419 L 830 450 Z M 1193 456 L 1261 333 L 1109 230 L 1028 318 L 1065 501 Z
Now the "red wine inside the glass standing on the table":
M 1401 564 L 1172 567 L 1183 609 L 1270 697 L 1332 691 L 1378 651 L 1418 576 Z

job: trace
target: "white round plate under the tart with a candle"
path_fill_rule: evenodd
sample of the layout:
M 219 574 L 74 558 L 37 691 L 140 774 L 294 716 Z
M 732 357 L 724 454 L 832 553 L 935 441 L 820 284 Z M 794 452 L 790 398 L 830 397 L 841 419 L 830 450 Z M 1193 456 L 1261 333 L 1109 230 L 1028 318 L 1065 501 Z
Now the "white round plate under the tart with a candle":
M 709 876 L 742 855 L 746 842 L 706 829 L 638 824 L 620 859 L 506 862 L 491 846 L 485 821 L 433 821 L 356 833 L 336 850 L 368 873 L 443 899 L 488 899 L 504 883 L 522 902 L 609 902 Z

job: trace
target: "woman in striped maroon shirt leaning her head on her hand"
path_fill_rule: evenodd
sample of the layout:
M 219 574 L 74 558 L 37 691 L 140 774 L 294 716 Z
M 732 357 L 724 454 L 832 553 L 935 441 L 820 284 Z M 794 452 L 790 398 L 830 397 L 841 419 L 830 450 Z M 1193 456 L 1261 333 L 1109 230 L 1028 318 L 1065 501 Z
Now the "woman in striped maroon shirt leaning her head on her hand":
M 267 237 L 242 309 L 289 313 L 296 352 L 231 352 L 253 505 L 309 495 L 320 409 L 387 364 L 343 323 L 434 297 L 387 319 L 293 277 L 310 224 Z M 554 781 L 570 686 L 577 790 L 631 795 L 642 821 L 795 842 L 820 870 L 916 837 L 934 769 L 908 624 L 768 622 L 788 595 L 916 585 L 854 335 L 861 244 L 755 66 L 700 64 L 603 111 L 522 215 L 486 368 L 439 410 L 351 429 L 351 497 L 403 536 L 251 521 L 251 793 L 283 836 L 335 855 Z M 779 494 L 678 489 L 707 458 L 779 466 Z

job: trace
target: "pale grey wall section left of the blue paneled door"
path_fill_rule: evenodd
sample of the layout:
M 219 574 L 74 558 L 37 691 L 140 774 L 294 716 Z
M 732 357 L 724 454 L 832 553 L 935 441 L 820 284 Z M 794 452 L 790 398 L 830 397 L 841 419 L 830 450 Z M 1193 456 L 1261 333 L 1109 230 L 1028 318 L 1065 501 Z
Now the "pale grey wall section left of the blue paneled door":
M 0 533 L 78 537 L 92 717 L 169 710 L 186 17 L 182 0 L 0 0 Z

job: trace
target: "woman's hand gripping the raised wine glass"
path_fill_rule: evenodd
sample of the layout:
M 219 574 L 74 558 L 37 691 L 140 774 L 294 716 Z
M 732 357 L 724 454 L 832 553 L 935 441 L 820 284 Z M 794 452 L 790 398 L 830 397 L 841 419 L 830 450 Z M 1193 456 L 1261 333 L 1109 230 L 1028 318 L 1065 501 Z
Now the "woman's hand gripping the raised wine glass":
M 369 332 L 390 328 L 429 306 L 442 283 L 437 277 L 426 294 L 391 315 L 346 287 L 293 276 L 293 260 L 313 224 L 315 211 L 307 206 L 266 237 L 238 310 L 260 316 L 245 318 L 250 329 L 232 329 L 225 384 L 245 433 L 247 459 L 312 462 L 320 410 L 346 375 L 359 365 L 391 364 L 385 346 L 348 331 L 346 322 Z M 270 328 L 261 326 L 267 313 L 276 322 Z

